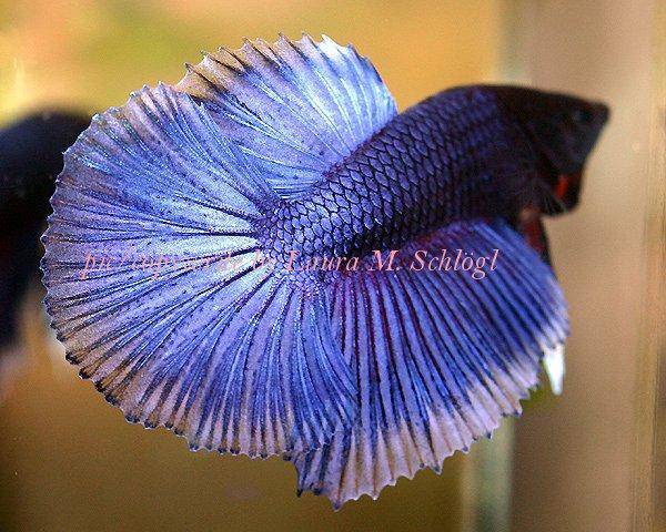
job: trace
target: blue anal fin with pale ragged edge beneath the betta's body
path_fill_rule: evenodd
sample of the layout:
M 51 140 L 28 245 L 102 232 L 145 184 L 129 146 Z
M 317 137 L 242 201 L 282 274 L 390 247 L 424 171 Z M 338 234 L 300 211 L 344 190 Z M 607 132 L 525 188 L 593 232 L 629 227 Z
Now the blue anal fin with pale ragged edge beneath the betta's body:
M 492 256 L 495 269 L 357 272 L 334 287 L 333 329 L 356 376 L 360 416 L 350 432 L 293 458 L 299 490 L 335 508 L 376 498 L 400 477 L 436 471 L 456 450 L 521 411 L 539 359 L 567 334 L 552 270 L 506 223 L 462 223 L 402 250 Z M 405 266 L 408 266 L 408 262 Z

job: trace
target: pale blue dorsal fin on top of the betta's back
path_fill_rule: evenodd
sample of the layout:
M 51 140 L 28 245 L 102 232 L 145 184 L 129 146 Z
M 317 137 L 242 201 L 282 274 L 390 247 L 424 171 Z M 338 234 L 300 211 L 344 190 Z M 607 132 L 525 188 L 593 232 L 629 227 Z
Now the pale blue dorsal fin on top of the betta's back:
M 176 89 L 203 103 L 282 197 L 306 192 L 396 114 L 372 63 L 326 37 L 206 53 Z

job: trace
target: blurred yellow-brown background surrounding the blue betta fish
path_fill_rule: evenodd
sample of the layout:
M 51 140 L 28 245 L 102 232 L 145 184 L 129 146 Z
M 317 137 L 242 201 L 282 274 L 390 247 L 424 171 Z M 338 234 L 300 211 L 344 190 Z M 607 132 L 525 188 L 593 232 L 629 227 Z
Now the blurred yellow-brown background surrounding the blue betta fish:
M 515 422 L 507 485 L 512 530 L 619 532 L 632 509 L 652 9 L 648 0 L 0 0 L 0 123 L 44 106 L 120 105 L 144 83 L 176 82 L 199 50 L 303 30 L 354 43 L 401 110 L 453 84 L 513 80 L 607 101 L 613 122 L 582 207 L 549 224 L 572 307 L 565 393 L 539 392 Z M 334 513 L 324 499 L 297 499 L 293 468 L 278 459 L 191 453 L 172 434 L 125 423 L 64 362 L 40 297 L 24 304 L 24 362 L 0 403 L 0 530 L 468 526 L 474 492 L 462 471 L 474 462 L 460 454 L 442 475 L 422 472 Z

